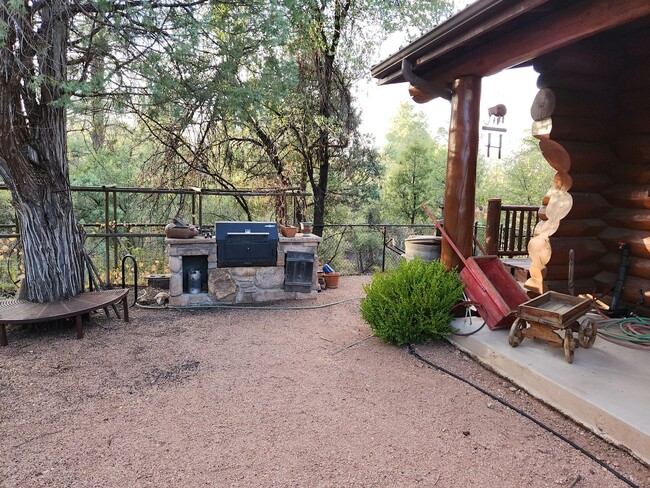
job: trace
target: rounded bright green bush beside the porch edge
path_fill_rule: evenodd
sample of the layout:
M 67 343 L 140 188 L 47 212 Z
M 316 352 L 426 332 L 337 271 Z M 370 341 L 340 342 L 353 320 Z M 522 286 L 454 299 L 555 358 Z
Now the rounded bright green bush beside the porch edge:
M 402 261 L 364 286 L 361 315 L 377 337 L 399 346 L 440 339 L 451 333 L 451 309 L 463 286 L 438 261 Z

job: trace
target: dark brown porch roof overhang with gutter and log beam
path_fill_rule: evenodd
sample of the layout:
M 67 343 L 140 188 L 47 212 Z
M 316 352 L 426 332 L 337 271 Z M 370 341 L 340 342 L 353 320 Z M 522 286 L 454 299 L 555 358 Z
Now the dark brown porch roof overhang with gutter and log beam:
M 406 82 L 403 60 L 448 89 L 459 76 L 489 76 L 612 28 L 650 17 L 647 0 L 478 0 L 374 66 L 380 85 Z M 426 90 L 425 90 L 426 91 Z M 428 101 L 436 95 L 429 93 Z

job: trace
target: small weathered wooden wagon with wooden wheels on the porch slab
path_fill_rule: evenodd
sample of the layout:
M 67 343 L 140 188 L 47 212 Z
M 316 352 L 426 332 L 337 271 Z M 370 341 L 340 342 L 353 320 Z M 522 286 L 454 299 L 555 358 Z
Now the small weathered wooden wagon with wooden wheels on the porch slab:
M 510 328 L 508 342 L 512 347 L 517 347 L 525 337 L 544 339 L 549 344 L 564 347 L 564 357 L 568 363 L 572 363 L 576 348 L 574 332 L 578 333 L 578 343 L 585 349 L 590 348 L 596 340 L 596 321 L 578 321 L 590 308 L 588 298 L 546 292 L 517 307 L 517 319 Z M 560 334 L 560 331 L 563 333 Z

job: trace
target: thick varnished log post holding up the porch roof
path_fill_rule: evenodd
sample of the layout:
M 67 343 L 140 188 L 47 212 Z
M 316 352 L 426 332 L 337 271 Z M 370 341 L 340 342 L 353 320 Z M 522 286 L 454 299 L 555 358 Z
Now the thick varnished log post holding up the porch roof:
M 454 82 L 449 122 L 444 227 L 463 256 L 472 254 L 476 157 L 480 125 L 481 78 L 463 76 Z M 440 260 L 447 268 L 462 268 L 446 240 Z

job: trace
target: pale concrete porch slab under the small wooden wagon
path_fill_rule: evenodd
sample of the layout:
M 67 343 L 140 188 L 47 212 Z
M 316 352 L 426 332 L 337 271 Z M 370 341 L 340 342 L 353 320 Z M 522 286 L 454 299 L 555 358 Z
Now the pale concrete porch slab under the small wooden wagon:
M 470 332 L 482 323 L 455 319 Z M 578 348 L 573 364 L 564 350 L 545 341 L 508 344 L 508 329 L 481 331 L 449 341 L 531 395 L 558 409 L 597 435 L 650 464 L 650 351 L 622 347 L 598 337 Z

